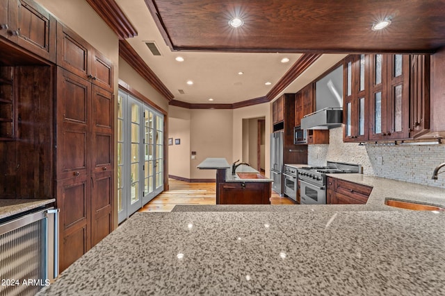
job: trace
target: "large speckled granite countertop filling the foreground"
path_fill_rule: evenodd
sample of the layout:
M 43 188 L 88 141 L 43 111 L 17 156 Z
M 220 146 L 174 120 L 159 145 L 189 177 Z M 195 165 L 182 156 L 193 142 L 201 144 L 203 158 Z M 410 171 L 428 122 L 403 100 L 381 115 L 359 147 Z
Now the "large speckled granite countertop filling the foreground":
M 136 213 L 38 295 L 445 295 L 445 213 Z

